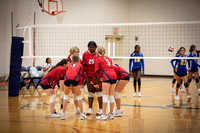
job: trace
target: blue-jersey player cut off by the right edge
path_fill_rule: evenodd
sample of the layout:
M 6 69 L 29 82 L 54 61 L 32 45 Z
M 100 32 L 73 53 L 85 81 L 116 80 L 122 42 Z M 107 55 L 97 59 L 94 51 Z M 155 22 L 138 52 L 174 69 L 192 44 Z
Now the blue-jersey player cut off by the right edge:
M 197 57 L 197 53 L 196 53 L 197 49 L 195 45 L 191 45 L 189 51 L 190 51 L 189 57 Z M 194 74 L 194 78 L 195 78 L 197 89 L 198 89 L 198 95 L 200 95 L 199 69 L 198 69 L 200 65 L 197 62 L 198 60 L 194 60 L 194 59 L 190 60 L 191 69 L 188 71 L 188 75 L 189 75 L 188 83 L 190 84 L 190 82 L 192 81 L 192 76 Z

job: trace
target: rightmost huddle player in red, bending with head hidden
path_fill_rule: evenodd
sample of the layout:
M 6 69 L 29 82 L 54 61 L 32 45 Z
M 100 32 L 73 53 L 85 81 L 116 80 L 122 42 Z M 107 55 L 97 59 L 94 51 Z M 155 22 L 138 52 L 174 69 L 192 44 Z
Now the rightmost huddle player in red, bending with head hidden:
M 120 108 L 120 105 L 121 105 L 120 93 L 124 89 L 124 87 L 127 85 L 130 79 L 130 75 L 126 70 L 124 70 L 117 64 L 115 64 L 113 68 L 117 74 L 117 80 L 118 80 L 116 88 L 115 88 L 115 93 L 114 93 L 115 102 L 117 104 L 117 110 L 114 112 L 114 116 L 121 117 L 123 115 L 123 112 Z

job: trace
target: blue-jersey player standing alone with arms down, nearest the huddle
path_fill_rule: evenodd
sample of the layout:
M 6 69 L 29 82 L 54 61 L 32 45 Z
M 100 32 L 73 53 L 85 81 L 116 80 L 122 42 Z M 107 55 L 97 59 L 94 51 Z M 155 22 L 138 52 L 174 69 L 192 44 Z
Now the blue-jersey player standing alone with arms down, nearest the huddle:
M 135 51 L 131 54 L 131 57 L 143 57 L 143 54 L 140 52 L 140 46 L 139 45 L 135 45 Z M 133 62 L 133 65 L 132 65 Z M 141 72 L 141 68 L 142 68 L 142 72 Z M 133 82 L 133 86 L 134 86 L 134 97 L 136 97 L 138 95 L 138 97 L 141 97 L 141 74 L 144 74 L 144 59 L 130 59 L 129 60 L 129 72 L 130 74 L 133 74 L 134 77 L 134 82 Z M 137 89 L 136 89 L 136 84 L 138 82 L 138 94 L 137 94 Z

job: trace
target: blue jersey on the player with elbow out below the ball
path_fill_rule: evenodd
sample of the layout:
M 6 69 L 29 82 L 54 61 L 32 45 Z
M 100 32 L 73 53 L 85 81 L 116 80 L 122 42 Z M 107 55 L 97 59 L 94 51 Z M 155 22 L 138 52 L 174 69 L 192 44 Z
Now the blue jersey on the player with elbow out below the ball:
M 177 55 L 176 57 L 183 57 L 183 56 Z M 188 56 L 185 55 L 185 57 L 188 57 Z M 173 63 L 174 61 L 176 61 L 175 65 Z M 178 74 L 187 74 L 187 67 L 186 67 L 187 62 L 188 62 L 188 67 L 190 68 L 190 60 L 189 59 L 172 59 L 171 60 L 172 67 L 174 69 L 178 65 L 178 67 L 177 67 Z

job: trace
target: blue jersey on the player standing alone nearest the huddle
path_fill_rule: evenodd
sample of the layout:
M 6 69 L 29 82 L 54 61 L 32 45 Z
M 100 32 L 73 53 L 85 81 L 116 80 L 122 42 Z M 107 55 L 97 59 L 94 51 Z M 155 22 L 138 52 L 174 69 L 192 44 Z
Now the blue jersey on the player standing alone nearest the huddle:
M 142 53 L 135 54 L 135 52 L 133 52 L 130 57 L 143 57 L 143 54 Z M 132 62 L 133 62 L 133 66 L 132 66 Z M 142 71 L 144 71 L 144 59 L 130 59 L 129 60 L 129 72 L 131 72 L 133 69 L 137 69 L 141 67 L 142 67 Z

